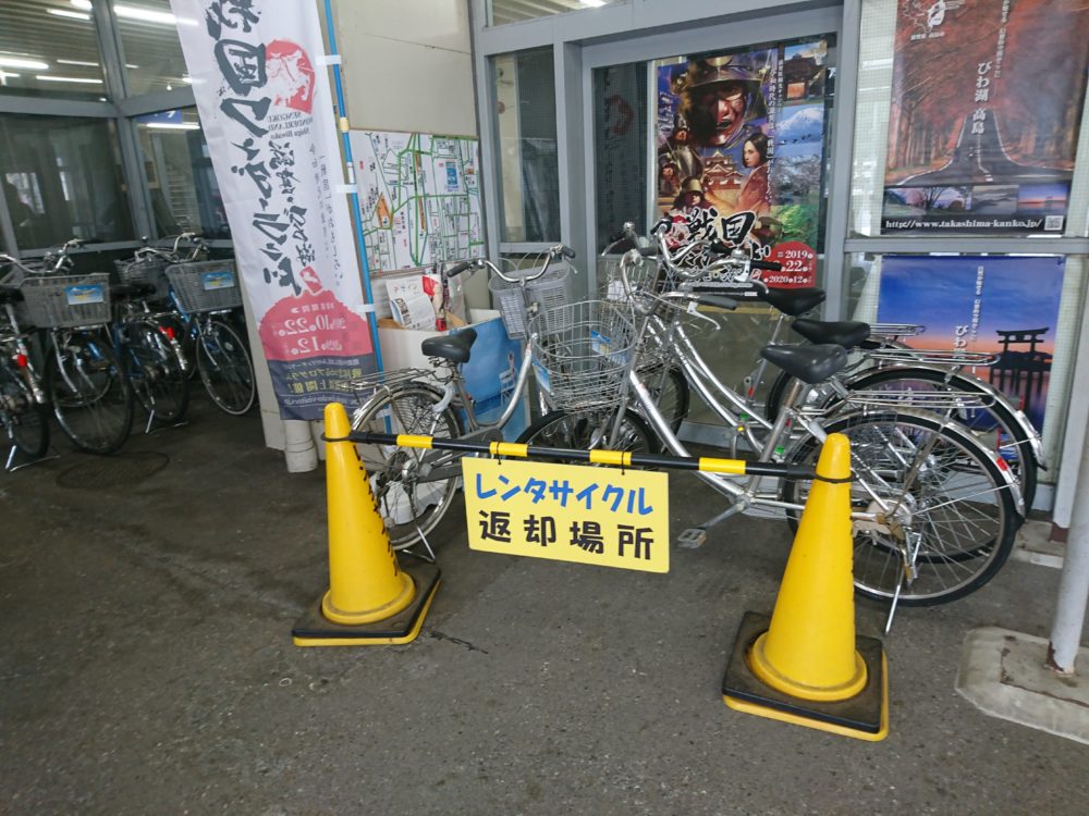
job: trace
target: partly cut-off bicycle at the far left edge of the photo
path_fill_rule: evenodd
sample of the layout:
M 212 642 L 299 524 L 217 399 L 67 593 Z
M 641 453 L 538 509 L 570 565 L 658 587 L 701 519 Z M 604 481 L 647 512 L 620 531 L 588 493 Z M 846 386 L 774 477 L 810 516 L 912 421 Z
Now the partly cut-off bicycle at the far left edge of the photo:
M 2 259 L 0 259 L 2 260 Z M 49 449 L 49 415 L 41 381 L 34 369 L 27 339 L 15 317 L 22 302 L 17 288 L 0 285 L 0 305 L 8 323 L 0 329 L 0 424 L 10 442 L 4 470 L 15 470 L 15 455 L 32 461 Z

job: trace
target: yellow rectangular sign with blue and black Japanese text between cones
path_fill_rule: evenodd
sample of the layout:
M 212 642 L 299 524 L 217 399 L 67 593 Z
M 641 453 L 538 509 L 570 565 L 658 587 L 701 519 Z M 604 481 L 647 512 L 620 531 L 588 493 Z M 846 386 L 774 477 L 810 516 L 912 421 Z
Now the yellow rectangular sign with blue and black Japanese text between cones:
M 465 457 L 462 475 L 472 549 L 670 570 L 665 473 Z

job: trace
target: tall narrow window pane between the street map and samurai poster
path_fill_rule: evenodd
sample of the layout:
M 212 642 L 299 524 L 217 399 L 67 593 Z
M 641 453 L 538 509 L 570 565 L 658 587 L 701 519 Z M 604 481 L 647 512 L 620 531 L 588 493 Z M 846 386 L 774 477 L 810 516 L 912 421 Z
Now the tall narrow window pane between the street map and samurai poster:
M 552 49 L 492 58 L 499 137 L 500 240 L 560 240 Z

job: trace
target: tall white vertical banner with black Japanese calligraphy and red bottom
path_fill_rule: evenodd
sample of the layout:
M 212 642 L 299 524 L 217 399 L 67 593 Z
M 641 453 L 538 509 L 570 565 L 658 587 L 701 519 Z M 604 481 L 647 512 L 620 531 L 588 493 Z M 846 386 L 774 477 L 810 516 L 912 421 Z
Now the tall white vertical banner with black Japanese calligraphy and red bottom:
M 280 413 L 375 368 L 311 2 L 171 0 Z

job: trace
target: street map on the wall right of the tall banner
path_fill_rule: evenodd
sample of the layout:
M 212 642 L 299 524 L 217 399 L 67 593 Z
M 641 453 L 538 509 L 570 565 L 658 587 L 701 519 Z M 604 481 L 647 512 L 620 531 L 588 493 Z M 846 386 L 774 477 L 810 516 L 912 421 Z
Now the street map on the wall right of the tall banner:
M 352 131 L 370 269 L 418 269 L 484 255 L 475 138 Z

